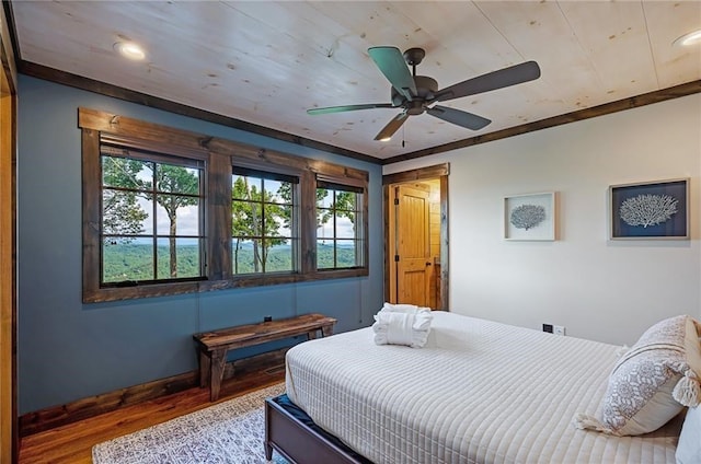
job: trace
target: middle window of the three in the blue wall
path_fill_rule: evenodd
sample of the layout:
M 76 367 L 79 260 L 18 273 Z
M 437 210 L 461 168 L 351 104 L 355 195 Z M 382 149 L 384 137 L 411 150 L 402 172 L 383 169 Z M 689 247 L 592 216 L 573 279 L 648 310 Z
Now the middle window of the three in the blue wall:
M 233 169 L 231 230 L 233 274 L 295 272 L 299 178 Z

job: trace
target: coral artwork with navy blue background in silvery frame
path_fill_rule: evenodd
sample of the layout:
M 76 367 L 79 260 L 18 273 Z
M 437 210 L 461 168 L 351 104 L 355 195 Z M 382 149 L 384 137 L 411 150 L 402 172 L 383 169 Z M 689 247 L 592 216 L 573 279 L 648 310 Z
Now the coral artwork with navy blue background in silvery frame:
M 612 185 L 611 240 L 688 240 L 689 179 Z

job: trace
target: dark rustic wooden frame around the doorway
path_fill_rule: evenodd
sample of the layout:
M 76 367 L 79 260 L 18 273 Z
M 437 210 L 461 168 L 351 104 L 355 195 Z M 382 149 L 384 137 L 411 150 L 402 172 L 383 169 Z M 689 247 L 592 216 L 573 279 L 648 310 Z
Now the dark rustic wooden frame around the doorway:
M 448 241 L 448 175 L 450 163 L 435 164 L 411 171 L 382 176 L 382 209 L 384 216 L 384 301 L 390 297 L 390 268 L 394 258 L 394 237 L 391 236 L 389 225 L 391 205 L 391 186 L 394 184 L 416 183 L 438 178 L 440 181 L 440 308 L 436 310 L 450 311 L 449 295 L 449 241 Z

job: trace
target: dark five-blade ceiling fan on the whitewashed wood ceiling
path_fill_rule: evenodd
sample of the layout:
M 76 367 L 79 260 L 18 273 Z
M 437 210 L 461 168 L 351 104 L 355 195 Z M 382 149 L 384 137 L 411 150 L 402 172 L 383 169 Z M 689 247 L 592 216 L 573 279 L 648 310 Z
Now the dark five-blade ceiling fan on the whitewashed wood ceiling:
M 375 137 L 375 140 L 380 141 L 390 140 L 392 135 L 409 119 L 409 116 L 422 113 L 428 113 L 439 119 L 468 129 L 480 130 L 492 121 L 472 113 L 448 106 L 434 105 L 434 103 L 503 89 L 532 81 L 540 77 L 538 63 L 536 61 L 527 61 L 438 90 L 438 82 L 435 79 L 427 76 L 416 76 L 416 66 L 426 56 L 423 48 L 410 48 L 402 54 L 397 47 L 370 47 L 368 48 L 368 54 L 392 84 L 392 103 L 329 106 L 307 109 L 307 113 L 321 115 L 356 109 L 402 108 L 402 112 L 394 116 Z M 412 67 L 411 72 L 406 65 Z

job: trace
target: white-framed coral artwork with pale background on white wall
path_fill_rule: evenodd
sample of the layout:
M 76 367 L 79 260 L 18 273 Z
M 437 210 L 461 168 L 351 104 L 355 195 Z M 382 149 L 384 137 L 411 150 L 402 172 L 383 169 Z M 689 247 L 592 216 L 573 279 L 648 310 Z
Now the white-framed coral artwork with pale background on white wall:
M 504 198 L 504 239 L 555 240 L 555 193 Z

